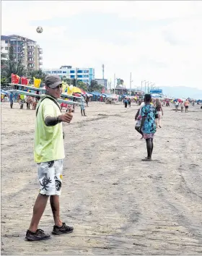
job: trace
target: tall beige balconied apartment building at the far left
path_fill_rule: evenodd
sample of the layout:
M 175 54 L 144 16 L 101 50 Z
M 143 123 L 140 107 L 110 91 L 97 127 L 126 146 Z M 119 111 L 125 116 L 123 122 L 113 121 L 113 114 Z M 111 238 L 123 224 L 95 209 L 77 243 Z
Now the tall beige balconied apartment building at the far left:
M 22 58 L 26 69 L 38 70 L 43 67 L 43 49 L 35 40 L 20 35 L 1 35 L 1 52 L 9 54 L 9 47 L 13 46 L 16 61 Z

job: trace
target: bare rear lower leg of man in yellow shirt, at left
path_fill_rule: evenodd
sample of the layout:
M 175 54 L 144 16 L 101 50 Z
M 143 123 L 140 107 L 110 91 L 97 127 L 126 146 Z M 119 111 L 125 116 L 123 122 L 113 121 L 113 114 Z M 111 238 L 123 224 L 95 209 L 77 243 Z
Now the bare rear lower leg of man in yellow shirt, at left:
M 38 223 L 40 222 L 41 216 L 43 216 L 47 202 L 48 195 L 38 195 L 35 206 L 33 208 L 33 216 L 29 228 L 30 231 L 35 232 L 38 229 Z

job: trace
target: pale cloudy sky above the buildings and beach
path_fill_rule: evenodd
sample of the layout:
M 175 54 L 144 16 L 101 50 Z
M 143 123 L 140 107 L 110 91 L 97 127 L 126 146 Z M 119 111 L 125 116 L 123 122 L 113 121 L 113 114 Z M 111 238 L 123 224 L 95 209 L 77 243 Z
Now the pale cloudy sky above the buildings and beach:
M 44 69 L 104 64 L 112 87 L 202 89 L 201 27 L 202 1 L 1 1 L 1 35 L 36 40 Z

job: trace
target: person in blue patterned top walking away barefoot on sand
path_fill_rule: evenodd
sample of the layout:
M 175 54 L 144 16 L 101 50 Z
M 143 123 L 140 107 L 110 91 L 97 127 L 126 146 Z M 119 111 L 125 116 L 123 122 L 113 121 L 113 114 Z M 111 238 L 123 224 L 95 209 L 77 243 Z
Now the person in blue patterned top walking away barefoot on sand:
M 154 134 L 157 130 L 155 124 L 155 115 L 157 114 L 157 110 L 154 105 L 151 105 L 151 95 L 144 95 L 144 103 L 145 106 L 141 108 L 141 127 L 140 130 L 143 131 L 143 137 L 146 140 L 146 149 L 147 149 L 147 157 L 142 159 L 142 161 L 152 161 L 151 155 L 153 153 L 153 139 Z

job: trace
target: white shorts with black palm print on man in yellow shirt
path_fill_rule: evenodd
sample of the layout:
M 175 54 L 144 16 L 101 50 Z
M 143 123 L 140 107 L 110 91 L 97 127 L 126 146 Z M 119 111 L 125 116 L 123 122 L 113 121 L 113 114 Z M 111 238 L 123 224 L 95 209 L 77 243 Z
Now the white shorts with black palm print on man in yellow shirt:
M 61 195 L 63 159 L 38 163 L 40 194 Z

